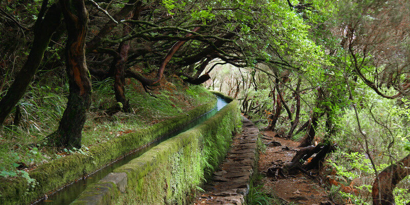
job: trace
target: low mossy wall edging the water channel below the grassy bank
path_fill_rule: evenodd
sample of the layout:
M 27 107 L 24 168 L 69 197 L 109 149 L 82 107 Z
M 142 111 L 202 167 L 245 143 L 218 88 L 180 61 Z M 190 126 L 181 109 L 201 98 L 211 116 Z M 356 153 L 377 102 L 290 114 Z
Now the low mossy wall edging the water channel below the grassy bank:
M 92 173 L 118 157 L 187 124 L 214 108 L 215 104 L 216 98 L 189 111 L 188 115 L 181 114 L 145 130 L 125 134 L 93 146 L 88 155 L 77 153 L 40 165 L 29 173 L 30 177 L 38 182 L 34 189 L 28 187 L 26 179 L 23 178 L 2 179 L 0 181 L 0 204 L 29 204 L 43 197 L 44 194 L 75 181 L 85 174 Z

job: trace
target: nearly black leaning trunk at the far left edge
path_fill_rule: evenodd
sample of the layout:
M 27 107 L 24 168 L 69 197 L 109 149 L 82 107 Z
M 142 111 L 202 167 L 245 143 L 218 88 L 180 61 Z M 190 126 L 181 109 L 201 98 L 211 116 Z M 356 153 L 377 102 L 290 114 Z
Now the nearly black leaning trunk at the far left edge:
M 44 52 L 50 43 L 50 38 L 55 29 L 61 24 L 61 9 L 52 5 L 44 16 L 44 19 L 37 19 L 37 29 L 34 32 L 34 40 L 30 54 L 23 68 L 15 77 L 13 84 L 0 101 L 0 125 L 3 125 L 6 117 L 15 107 L 27 90 L 28 85 L 38 70 L 38 66 L 43 61 Z

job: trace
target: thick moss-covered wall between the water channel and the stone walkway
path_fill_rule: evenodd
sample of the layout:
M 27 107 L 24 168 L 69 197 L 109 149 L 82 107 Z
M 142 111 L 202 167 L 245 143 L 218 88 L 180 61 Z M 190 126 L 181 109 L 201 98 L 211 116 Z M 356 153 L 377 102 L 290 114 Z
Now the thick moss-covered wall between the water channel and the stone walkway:
M 188 203 L 226 155 L 232 133 L 241 127 L 238 101 L 215 94 L 232 101 L 202 124 L 117 168 L 72 204 Z

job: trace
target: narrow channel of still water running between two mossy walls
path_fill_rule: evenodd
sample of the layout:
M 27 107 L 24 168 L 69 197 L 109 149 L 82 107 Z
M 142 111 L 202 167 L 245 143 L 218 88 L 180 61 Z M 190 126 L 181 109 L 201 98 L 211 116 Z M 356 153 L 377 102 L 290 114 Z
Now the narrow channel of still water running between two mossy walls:
M 169 133 L 167 135 L 164 135 L 160 138 L 158 138 L 157 140 L 151 142 L 151 144 L 142 147 L 140 149 L 137 149 L 135 151 L 133 151 L 132 153 L 116 160 L 113 161 L 112 163 L 110 163 L 109 165 L 107 165 L 106 167 L 96 171 L 93 174 L 90 174 L 89 176 L 86 176 L 85 178 L 81 178 L 79 180 L 77 180 L 76 182 L 71 183 L 70 185 L 58 190 L 57 192 L 55 192 L 54 194 L 48 196 L 47 198 L 43 198 L 40 199 L 36 202 L 34 202 L 33 204 L 40 204 L 40 205 L 65 205 L 65 204 L 70 204 L 71 202 L 73 202 L 78 195 L 81 194 L 81 192 L 83 192 L 88 186 L 92 185 L 95 182 L 98 182 L 100 179 L 104 178 L 106 175 L 108 175 L 109 173 L 111 173 L 114 169 L 125 165 L 126 163 L 128 163 L 129 161 L 131 161 L 132 159 L 140 156 L 141 154 L 144 154 L 145 152 L 147 152 L 148 150 L 150 150 L 151 148 L 157 146 L 158 144 L 160 144 L 162 141 L 165 141 L 171 137 L 174 137 L 176 135 L 178 135 L 179 133 L 185 132 L 193 127 L 195 127 L 198 124 L 201 124 L 203 121 L 209 119 L 210 117 L 212 117 L 213 115 L 215 115 L 220 109 L 222 109 L 224 106 L 226 106 L 228 104 L 228 102 L 222 98 L 220 98 L 219 96 L 217 97 L 217 103 L 216 103 L 216 107 L 214 109 L 212 109 L 211 111 L 199 116 L 198 118 L 196 118 L 195 120 L 191 121 L 189 124 L 181 127 L 180 129 Z

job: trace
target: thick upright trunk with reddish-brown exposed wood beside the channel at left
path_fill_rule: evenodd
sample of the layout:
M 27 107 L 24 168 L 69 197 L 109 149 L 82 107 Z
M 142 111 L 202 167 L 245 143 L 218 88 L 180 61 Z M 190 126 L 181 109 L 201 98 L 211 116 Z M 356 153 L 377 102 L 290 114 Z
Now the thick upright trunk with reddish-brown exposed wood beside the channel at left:
M 81 131 L 91 104 L 91 81 L 85 56 L 88 12 L 84 0 L 60 0 L 60 4 L 68 31 L 66 64 L 70 93 L 55 142 L 58 146 L 79 148 Z

